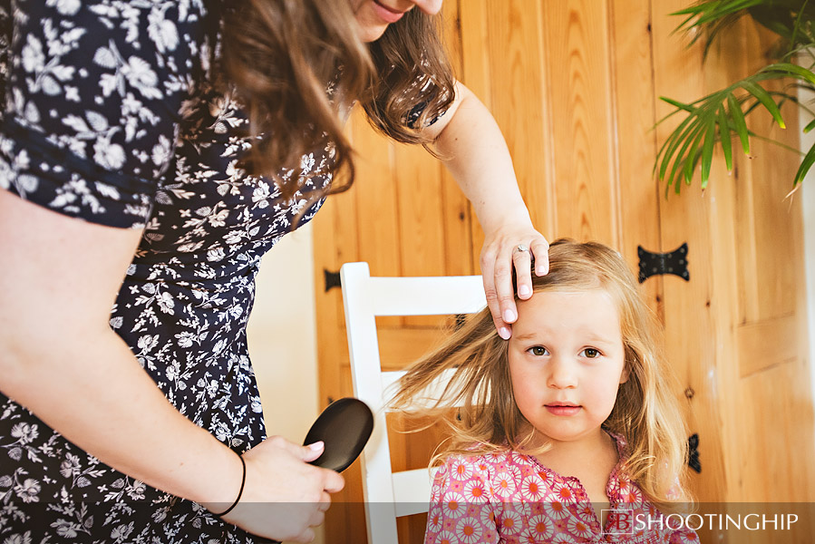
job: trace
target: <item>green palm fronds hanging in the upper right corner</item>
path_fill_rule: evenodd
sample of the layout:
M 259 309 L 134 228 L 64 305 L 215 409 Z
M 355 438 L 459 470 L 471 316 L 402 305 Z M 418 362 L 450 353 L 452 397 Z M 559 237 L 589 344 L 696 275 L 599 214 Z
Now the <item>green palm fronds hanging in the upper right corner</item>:
M 792 180 L 793 186 L 803 180 L 815 165 L 815 145 L 806 153 L 793 149 L 782 141 L 756 134 L 747 127 L 746 118 L 757 110 L 768 112 L 781 128 L 785 127 L 781 106 L 791 102 L 815 117 L 806 104 L 798 99 L 798 91 L 815 92 L 815 2 L 810 0 L 700 0 L 672 15 L 683 16 L 676 31 L 690 36 L 690 43 L 704 40 L 704 57 L 711 45 L 721 39 L 723 30 L 749 15 L 754 21 L 778 34 L 779 44 L 774 51 L 781 62 L 771 63 L 762 70 L 739 82 L 712 92 L 690 103 L 660 97 L 671 104 L 674 111 L 657 124 L 684 115 L 684 119 L 668 135 L 657 153 L 654 171 L 665 181 L 665 189 L 674 187 L 679 192 L 682 182 L 689 185 L 694 172 L 701 171 L 702 187 L 707 187 L 713 168 L 713 153 L 721 147 L 727 170 L 733 170 L 733 141 L 738 138 L 742 151 L 750 154 L 752 139 L 769 141 L 784 149 L 803 155 L 800 168 Z M 796 59 L 797 63 L 788 62 Z M 808 60 L 807 60 L 808 59 Z M 769 89 L 764 84 L 784 81 L 781 90 Z M 815 130 L 811 121 L 803 131 Z

